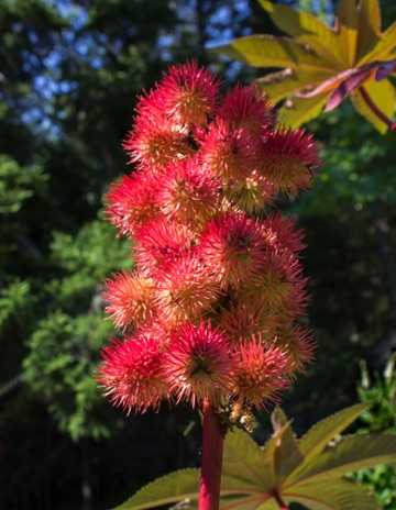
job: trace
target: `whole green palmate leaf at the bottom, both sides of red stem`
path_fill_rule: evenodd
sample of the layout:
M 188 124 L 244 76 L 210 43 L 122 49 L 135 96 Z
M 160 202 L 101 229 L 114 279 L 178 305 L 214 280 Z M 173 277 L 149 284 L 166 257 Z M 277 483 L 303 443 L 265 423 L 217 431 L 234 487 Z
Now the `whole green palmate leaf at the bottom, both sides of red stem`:
M 329 441 L 370 404 L 329 417 L 297 440 L 290 422 L 276 408 L 275 433 L 260 447 L 248 433 L 230 432 L 224 442 L 221 510 L 278 510 L 283 501 L 311 510 L 374 510 L 375 499 L 344 475 L 396 461 L 396 435 L 355 435 Z M 148 484 L 117 510 L 146 510 L 177 503 L 197 507 L 198 470 L 187 469 Z

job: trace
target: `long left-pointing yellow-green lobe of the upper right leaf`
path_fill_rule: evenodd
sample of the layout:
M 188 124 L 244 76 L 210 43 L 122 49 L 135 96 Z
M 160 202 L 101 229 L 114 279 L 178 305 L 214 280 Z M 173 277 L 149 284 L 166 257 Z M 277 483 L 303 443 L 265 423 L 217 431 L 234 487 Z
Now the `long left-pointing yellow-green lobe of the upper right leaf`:
M 288 37 L 249 35 L 215 48 L 253 67 L 289 67 L 298 71 L 333 73 L 333 66 L 306 45 Z

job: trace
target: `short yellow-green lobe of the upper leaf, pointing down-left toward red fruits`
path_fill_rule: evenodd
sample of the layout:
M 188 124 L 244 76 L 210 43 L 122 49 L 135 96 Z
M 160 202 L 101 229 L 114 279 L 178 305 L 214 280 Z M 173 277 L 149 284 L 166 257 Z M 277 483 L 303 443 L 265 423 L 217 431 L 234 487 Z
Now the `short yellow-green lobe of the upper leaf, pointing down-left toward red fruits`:
M 331 92 L 318 93 L 314 98 L 293 98 L 285 102 L 278 111 L 278 121 L 293 129 L 316 119 L 323 110 Z

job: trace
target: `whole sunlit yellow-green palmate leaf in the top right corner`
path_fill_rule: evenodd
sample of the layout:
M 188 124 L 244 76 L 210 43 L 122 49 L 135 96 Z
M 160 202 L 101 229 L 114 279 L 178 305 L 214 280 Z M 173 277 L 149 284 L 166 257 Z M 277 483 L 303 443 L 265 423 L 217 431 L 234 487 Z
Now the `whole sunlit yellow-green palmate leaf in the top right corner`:
M 389 87 L 374 84 L 396 74 L 396 22 L 381 32 L 378 0 L 360 0 L 359 4 L 341 0 L 333 29 L 308 12 L 270 0 L 258 2 L 294 38 L 252 35 L 217 51 L 254 67 L 284 68 L 257 80 L 274 102 L 292 99 L 279 110 L 280 122 L 298 127 L 354 95 L 356 110 L 381 133 L 396 129 L 392 121 L 395 98 L 387 93 L 385 108 L 381 92 Z M 366 86 L 375 98 L 369 106 L 363 104 L 361 93 Z

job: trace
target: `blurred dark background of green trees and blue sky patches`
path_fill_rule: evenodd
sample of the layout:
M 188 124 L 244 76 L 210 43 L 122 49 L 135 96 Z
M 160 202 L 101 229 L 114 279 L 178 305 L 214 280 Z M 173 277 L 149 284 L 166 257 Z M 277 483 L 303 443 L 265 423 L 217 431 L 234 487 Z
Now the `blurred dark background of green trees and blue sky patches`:
M 277 3 L 331 23 L 338 2 Z M 396 4 L 380 3 L 387 26 Z M 250 33 L 278 33 L 256 0 L 0 0 L 1 510 L 112 508 L 199 465 L 198 412 L 127 418 L 92 377 L 114 334 L 102 280 L 132 266 L 129 242 L 103 221 L 103 193 L 133 170 L 121 142 L 136 95 L 188 58 L 224 89 L 250 84 L 262 69 L 210 51 Z M 318 350 L 283 407 L 304 433 L 372 400 L 355 426 L 395 431 L 396 135 L 348 102 L 307 127 L 324 164 L 309 192 L 280 206 L 306 230 L 305 320 Z M 268 413 L 254 434 L 271 434 Z M 360 479 L 396 508 L 392 467 Z

